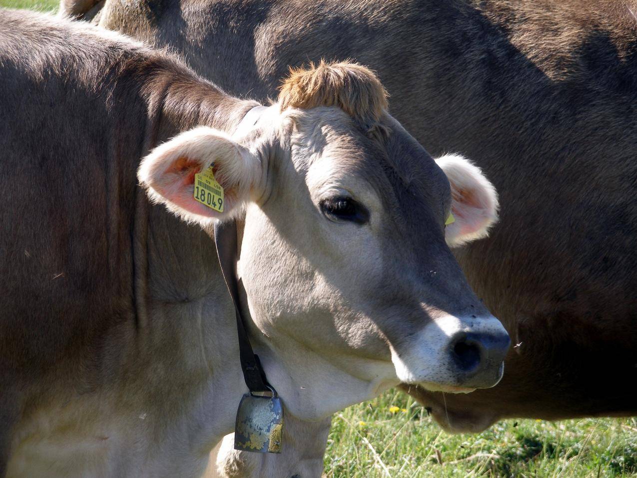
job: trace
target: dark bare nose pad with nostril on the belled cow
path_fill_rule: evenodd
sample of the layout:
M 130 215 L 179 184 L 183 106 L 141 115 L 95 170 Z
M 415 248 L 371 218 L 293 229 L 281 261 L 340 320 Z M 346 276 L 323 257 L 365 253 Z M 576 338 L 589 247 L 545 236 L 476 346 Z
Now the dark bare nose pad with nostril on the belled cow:
M 511 340 L 506 333 L 459 332 L 452 338 L 450 354 L 462 386 L 488 388 L 502 378 Z

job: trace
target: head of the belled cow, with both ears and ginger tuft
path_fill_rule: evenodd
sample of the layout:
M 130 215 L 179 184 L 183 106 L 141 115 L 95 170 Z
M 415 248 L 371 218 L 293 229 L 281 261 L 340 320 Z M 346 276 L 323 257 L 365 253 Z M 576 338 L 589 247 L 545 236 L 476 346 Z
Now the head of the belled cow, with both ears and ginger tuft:
M 210 166 L 222 212 L 193 198 Z M 325 417 L 398 382 L 471 391 L 500 379 L 508 335 L 448 246 L 485 233 L 494 190 L 462 157 L 436 164 L 368 69 L 293 71 L 254 127 L 182 133 L 138 176 L 185 221 L 243 224 L 250 337 L 295 416 Z

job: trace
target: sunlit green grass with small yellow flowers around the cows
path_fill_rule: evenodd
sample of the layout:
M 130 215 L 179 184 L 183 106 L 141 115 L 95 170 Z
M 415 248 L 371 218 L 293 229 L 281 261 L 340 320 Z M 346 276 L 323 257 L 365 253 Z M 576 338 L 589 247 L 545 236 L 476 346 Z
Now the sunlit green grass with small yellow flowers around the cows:
M 55 10 L 57 1 L 0 6 Z M 334 417 L 325 465 L 334 478 L 637 476 L 637 419 L 506 420 L 449 435 L 412 398 L 389 391 Z

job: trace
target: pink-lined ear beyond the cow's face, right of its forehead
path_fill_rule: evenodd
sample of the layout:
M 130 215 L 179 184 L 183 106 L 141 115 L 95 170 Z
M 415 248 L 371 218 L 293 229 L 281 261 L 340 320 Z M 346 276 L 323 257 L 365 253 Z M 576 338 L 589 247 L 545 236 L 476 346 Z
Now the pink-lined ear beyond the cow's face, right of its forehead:
M 497 193 L 479 168 L 464 157 L 448 154 L 436 159 L 451 185 L 451 212 L 445 240 L 450 247 L 486 237 L 497 221 Z

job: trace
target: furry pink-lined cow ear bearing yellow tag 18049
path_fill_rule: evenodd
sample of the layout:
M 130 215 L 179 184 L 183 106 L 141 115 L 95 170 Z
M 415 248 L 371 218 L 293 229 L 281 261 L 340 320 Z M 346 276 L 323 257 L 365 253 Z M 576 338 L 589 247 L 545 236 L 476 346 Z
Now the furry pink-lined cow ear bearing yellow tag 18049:
M 152 201 L 208 226 L 240 214 L 261 178 L 261 161 L 222 131 L 201 126 L 152 150 L 137 177 Z

